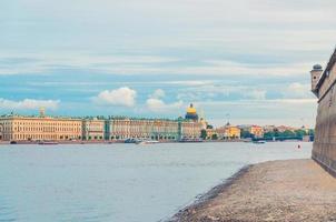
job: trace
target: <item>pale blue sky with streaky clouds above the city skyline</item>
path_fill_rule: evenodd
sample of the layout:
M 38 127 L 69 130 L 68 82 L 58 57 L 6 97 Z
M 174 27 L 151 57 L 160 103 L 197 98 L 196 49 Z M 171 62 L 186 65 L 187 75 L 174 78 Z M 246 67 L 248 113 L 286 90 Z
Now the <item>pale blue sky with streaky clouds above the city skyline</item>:
M 335 0 L 0 1 L 0 114 L 314 127 Z

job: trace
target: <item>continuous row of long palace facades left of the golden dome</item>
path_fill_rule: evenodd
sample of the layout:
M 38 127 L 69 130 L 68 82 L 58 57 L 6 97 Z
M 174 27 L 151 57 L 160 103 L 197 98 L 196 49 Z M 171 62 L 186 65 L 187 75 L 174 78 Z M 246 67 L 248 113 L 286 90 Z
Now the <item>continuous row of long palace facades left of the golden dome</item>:
M 188 119 L 73 119 L 51 117 L 6 115 L 0 118 L 3 141 L 113 141 L 147 139 L 177 141 L 198 139 L 201 124 Z

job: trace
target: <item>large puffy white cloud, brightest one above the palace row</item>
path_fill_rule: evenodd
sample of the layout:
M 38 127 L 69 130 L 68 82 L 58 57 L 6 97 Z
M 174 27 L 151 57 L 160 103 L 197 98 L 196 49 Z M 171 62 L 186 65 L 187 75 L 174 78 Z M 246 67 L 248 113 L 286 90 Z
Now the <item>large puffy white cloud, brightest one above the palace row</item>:
M 105 90 L 92 100 L 97 104 L 134 107 L 136 104 L 137 91 L 122 87 L 116 90 Z

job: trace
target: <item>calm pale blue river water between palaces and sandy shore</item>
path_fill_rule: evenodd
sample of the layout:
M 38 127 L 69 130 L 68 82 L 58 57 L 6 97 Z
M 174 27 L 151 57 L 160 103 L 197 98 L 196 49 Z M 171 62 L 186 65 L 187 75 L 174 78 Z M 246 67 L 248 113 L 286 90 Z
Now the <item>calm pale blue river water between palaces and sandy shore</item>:
M 297 144 L 1 145 L 0 221 L 164 220 L 246 164 L 309 158 Z

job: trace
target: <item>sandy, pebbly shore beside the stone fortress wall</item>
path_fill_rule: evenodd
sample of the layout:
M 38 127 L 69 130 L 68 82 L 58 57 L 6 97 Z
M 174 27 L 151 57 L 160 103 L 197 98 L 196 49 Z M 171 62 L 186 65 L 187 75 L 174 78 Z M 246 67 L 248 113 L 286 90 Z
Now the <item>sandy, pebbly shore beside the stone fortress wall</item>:
M 170 221 L 336 222 L 336 179 L 313 160 L 250 165 Z

